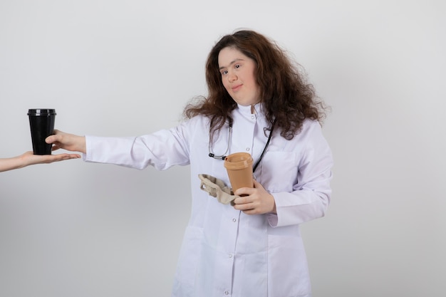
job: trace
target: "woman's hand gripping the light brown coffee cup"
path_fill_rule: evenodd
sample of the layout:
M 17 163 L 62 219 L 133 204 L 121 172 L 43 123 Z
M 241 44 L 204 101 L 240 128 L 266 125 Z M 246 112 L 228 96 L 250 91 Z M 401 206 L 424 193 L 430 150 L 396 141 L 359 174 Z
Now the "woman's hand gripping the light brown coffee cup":
M 254 188 L 240 188 L 234 192 L 240 196 L 234 199 L 234 209 L 241 210 L 245 214 L 276 213 L 276 202 L 273 195 L 254 179 Z

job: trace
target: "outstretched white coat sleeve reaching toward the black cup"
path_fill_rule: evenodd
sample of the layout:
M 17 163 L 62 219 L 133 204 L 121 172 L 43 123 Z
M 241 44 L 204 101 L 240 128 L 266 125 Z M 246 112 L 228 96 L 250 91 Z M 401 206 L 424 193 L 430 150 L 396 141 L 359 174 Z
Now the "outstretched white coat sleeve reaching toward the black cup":
M 139 137 L 85 136 L 86 162 L 115 164 L 139 170 L 153 166 L 166 170 L 173 165 L 188 165 L 187 124 Z

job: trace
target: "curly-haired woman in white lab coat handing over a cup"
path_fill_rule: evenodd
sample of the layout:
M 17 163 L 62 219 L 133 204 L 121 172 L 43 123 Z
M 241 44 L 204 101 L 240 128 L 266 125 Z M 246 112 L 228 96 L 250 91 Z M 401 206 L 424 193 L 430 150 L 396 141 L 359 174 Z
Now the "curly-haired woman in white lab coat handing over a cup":
M 311 296 L 299 225 L 323 217 L 330 202 L 324 105 L 284 51 L 254 31 L 221 38 L 206 79 L 207 97 L 187 105 L 186 120 L 170 130 L 132 138 L 56 131 L 47 142 L 89 162 L 190 165 L 192 214 L 172 296 Z M 237 189 L 233 204 L 222 204 L 199 188 L 197 175 L 229 184 L 222 159 L 234 152 L 263 157 L 254 188 Z

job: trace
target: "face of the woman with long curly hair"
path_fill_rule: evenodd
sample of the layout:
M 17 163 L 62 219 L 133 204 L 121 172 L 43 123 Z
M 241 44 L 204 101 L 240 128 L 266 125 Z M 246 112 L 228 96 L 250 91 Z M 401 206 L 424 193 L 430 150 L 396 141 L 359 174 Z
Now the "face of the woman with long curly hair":
M 259 102 L 254 60 L 236 48 L 229 47 L 219 52 L 218 65 L 224 88 L 235 102 L 245 106 Z

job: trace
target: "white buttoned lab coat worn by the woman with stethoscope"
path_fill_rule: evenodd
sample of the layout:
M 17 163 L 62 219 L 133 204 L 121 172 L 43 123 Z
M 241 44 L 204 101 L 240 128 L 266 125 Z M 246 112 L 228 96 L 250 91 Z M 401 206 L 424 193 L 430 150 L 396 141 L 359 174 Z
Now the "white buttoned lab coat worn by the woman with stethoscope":
M 238 106 L 229 153 L 261 155 L 268 132 L 261 105 Z M 228 127 L 212 145 L 227 149 Z M 299 224 L 323 217 L 331 197 L 331 150 L 321 126 L 306 120 L 292 140 L 274 130 L 254 175 L 273 194 L 277 214 L 248 215 L 199 189 L 198 174 L 229 184 L 223 160 L 208 156 L 208 119 L 197 116 L 170 130 L 141 137 L 86 137 L 88 162 L 166 170 L 191 165 L 192 214 L 185 231 L 172 297 L 310 297 Z M 228 153 L 228 154 L 229 154 Z

